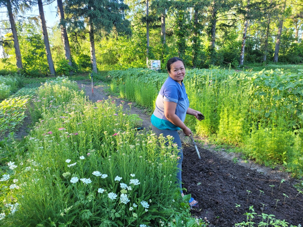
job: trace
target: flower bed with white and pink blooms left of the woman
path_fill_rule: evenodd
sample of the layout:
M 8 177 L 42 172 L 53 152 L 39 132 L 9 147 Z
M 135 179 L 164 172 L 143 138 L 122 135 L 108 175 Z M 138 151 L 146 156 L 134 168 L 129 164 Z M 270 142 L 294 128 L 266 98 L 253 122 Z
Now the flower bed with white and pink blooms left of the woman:
M 11 187 L 0 197 L 7 205 L 3 226 L 203 223 L 181 201 L 172 138 L 138 133 L 138 117 L 112 100 L 87 101 L 64 77 L 48 81 L 37 94 L 33 105 L 41 119 L 20 144 L 21 155 L 10 155 L 6 166 L 0 162 L 10 175 L 3 183 Z

